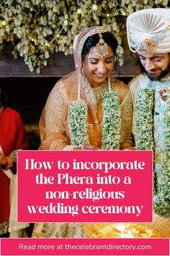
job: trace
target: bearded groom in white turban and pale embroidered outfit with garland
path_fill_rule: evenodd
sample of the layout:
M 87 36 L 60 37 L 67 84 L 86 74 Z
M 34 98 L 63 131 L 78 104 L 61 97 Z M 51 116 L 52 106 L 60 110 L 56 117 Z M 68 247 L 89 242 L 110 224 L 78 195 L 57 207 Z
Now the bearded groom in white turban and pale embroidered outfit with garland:
M 130 82 L 135 148 L 153 150 L 153 210 L 170 218 L 170 9 L 130 14 L 127 35 L 141 71 Z

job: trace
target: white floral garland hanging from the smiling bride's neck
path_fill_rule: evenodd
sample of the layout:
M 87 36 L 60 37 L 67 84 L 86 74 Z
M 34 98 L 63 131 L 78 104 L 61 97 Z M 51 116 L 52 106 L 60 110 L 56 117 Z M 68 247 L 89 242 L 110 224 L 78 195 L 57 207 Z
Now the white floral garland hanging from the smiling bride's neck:
M 120 148 L 120 96 L 117 91 L 104 94 L 102 123 L 102 149 L 119 150 Z M 87 104 L 74 101 L 70 107 L 71 145 L 89 143 L 87 132 Z

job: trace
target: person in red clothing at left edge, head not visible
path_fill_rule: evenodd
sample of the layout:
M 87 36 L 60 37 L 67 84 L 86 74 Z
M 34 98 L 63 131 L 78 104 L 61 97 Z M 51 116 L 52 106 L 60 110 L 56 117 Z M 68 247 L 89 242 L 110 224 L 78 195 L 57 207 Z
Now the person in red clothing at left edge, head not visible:
M 13 174 L 17 171 L 17 150 L 28 149 L 24 124 L 19 113 L 1 105 L 0 88 L 0 237 L 9 236 L 9 168 Z

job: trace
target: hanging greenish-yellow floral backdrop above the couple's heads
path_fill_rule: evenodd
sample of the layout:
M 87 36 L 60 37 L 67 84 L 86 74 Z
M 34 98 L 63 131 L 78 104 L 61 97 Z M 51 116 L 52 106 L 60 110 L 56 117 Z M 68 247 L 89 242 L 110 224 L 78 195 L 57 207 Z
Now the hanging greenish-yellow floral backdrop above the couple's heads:
M 139 9 L 170 7 L 169 0 L 1 0 L 0 51 L 6 42 L 14 45 L 32 72 L 48 64 L 51 54 L 72 52 L 77 33 L 92 25 L 107 25 L 115 34 L 122 65 L 120 27 L 117 15 L 127 16 Z

